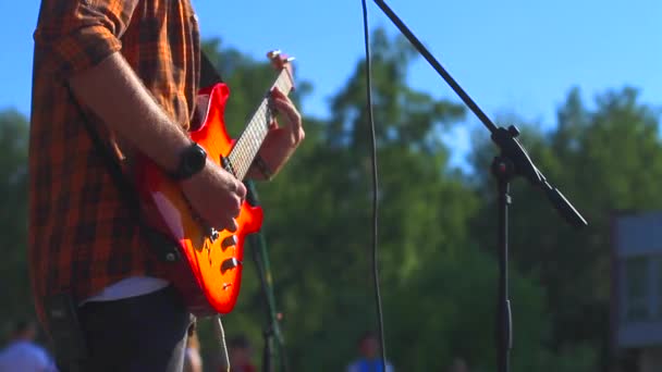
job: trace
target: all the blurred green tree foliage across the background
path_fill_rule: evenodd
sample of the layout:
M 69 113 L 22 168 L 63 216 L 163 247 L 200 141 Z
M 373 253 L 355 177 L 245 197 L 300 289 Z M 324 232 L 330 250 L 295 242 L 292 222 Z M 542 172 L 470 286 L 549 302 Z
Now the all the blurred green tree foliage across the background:
M 449 164 L 443 135 L 466 120 L 463 106 L 407 83 L 416 58 L 401 38 L 372 34 L 372 98 L 379 160 L 379 268 L 388 357 L 399 371 L 445 370 L 462 358 L 471 371 L 495 369 L 495 153 L 475 136 L 473 170 Z M 231 87 L 225 121 L 237 136 L 275 74 L 265 60 L 205 42 Z M 295 101 L 311 89 L 297 82 Z M 281 174 L 258 185 L 277 302 L 292 371 L 342 370 L 360 334 L 377 330 L 371 272 L 372 179 L 366 61 L 330 98 L 331 117 L 305 115 L 306 140 Z M 305 114 L 305 113 L 304 113 Z M 659 112 L 623 88 L 587 104 L 568 92 L 557 121 L 518 124 L 522 142 L 589 227 L 567 227 L 525 181 L 512 185 L 513 371 L 598 371 L 610 362 L 610 221 L 614 211 L 662 208 Z M 26 274 L 27 123 L 0 113 L 1 319 L 32 312 Z M 247 247 L 229 336 L 259 350 L 265 302 Z M 201 321 L 207 365 L 211 326 Z M 257 355 L 255 356 L 257 357 Z M 257 359 L 257 358 L 256 358 Z

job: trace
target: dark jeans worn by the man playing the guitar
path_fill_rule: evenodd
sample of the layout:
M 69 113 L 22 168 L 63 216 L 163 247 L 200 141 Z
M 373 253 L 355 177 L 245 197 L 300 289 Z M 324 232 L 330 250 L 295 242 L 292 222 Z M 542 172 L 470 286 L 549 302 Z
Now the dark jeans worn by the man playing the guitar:
M 172 286 L 114 301 L 87 302 L 78 309 L 87 358 L 77 370 L 181 372 L 192 318 Z

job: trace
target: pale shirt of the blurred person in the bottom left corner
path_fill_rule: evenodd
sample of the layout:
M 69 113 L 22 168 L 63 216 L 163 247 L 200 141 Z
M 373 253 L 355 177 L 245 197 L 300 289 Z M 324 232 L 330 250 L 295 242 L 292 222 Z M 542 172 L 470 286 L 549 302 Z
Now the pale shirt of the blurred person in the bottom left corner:
M 0 372 L 57 371 L 52 360 L 39 346 L 20 340 L 0 351 Z

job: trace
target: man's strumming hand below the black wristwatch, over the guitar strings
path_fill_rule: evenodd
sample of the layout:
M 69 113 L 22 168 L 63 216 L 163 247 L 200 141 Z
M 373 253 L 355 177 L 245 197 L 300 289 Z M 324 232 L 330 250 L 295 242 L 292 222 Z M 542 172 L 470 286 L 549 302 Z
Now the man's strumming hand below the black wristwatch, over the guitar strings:
M 211 160 L 193 177 L 181 182 L 184 196 L 193 210 L 216 230 L 235 232 L 234 220 L 246 198 L 246 187 Z

